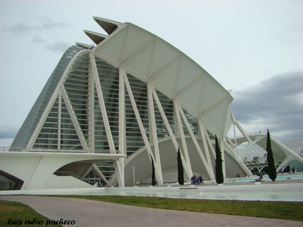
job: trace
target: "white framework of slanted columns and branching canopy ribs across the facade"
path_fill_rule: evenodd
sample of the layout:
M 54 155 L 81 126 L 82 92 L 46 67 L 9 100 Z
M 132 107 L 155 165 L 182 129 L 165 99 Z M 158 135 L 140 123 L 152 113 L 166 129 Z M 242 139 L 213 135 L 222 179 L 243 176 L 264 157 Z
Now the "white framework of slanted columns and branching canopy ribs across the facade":
M 70 114 L 71 120 L 75 126 L 75 130 L 77 132 L 77 135 L 79 137 L 79 140 L 81 142 L 81 145 L 83 147 L 83 149 L 85 150 L 93 150 L 94 147 L 94 81 L 96 84 L 96 90 L 97 90 L 97 96 L 99 99 L 99 104 L 100 104 L 100 110 L 102 113 L 102 118 L 103 118 L 103 122 L 104 122 L 104 128 L 106 131 L 106 135 L 107 135 L 107 139 L 108 139 L 108 143 L 110 146 L 111 150 L 115 150 L 115 146 L 114 146 L 114 142 L 113 142 L 113 138 L 111 135 L 111 130 L 110 130 L 110 126 L 109 126 L 109 122 L 108 122 L 108 117 L 107 117 L 107 113 L 106 113 L 106 109 L 105 109 L 105 103 L 103 100 L 103 95 L 102 95 L 102 91 L 101 91 L 101 86 L 100 86 L 100 81 L 99 81 L 99 76 L 97 73 L 97 67 L 96 67 L 96 62 L 95 62 L 95 55 L 99 57 L 100 56 L 101 59 L 108 61 L 109 63 L 115 63 L 115 66 L 117 67 L 117 65 L 119 66 L 119 150 L 121 151 L 122 154 L 126 154 L 126 132 L 125 132 L 125 89 L 124 89 L 124 85 L 126 85 L 127 87 L 127 91 L 130 95 L 130 101 L 131 104 L 133 106 L 133 110 L 135 112 L 136 115 L 136 120 L 138 122 L 142 137 L 144 139 L 144 144 L 147 148 L 147 151 L 149 154 L 152 155 L 152 150 L 151 150 L 151 145 L 154 145 L 154 150 L 155 150 L 155 169 L 156 169 L 156 177 L 159 183 L 162 183 L 162 171 L 161 171 L 161 160 L 160 160 L 160 154 L 159 154 L 159 146 L 158 146 L 158 140 L 157 140 L 157 131 L 156 131 L 156 124 L 155 124 L 155 114 L 154 114 L 154 104 L 153 104 L 153 98 L 155 99 L 155 102 L 159 108 L 159 112 L 161 114 L 162 120 L 167 128 L 167 131 L 170 135 L 170 138 L 173 142 L 173 145 L 175 146 L 175 149 L 177 151 L 177 140 L 176 137 L 180 136 L 181 138 L 181 145 L 182 145 L 182 149 L 181 149 L 181 158 L 183 161 L 183 165 L 184 165 L 184 171 L 185 174 L 188 176 L 188 178 L 191 177 L 192 175 L 192 170 L 191 170 L 191 164 L 190 164 L 190 159 L 188 156 L 188 151 L 187 151 L 187 145 L 185 142 L 185 135 L 183 132 L 183 127 L 182 127 L 182 120 L 181 117 L 183 119 L 183 122 L 189 132 L 189 135 L 199 153 L 199 156 L 202 160 L 202 163 L 205 165 L 206 169 L 207 169 L 207 174 L 209 175 L 210 179 L 214 178 L 214 172 L 213 172 L 213 167 L 211 164 L 211 160 L 210 160 L 210 153 L 212 153 L 212 155 L 215 158 L 215 152 L 214 152 L 214 148 L 213 148 L 213 144 L 210 140 L 210 137 L 206 131 L 206 127 L 205 124 L 207 125 L 207 127 L 209 130 L 212 130 L 212 133 L 216 132 L 218 135 L 222 134 L 222 132 L 217 132 L 218 130 L 215 130 L 216 126 L 215 125 L 211 125 L 209 122 L 206 121 L 206 119 L 203 119 L 203 114 L 206 113 L 207 111 L 211 110 L 213 107 L 217 106 L 219 103 L 221 103 L 223 100 L 225 100 L 228 97 L 231 97 L 229 95 L 229 92 L 226 93 L 225 95 L 221 95 L 221 98 L 219 100 L 213 100 L 214 102 L 211 103 L 210 106 L 207 106 L 207 109 L 204 109 L 202 112 L 202 97 L 204 97 L 205 94 L 205 89 L 204 86 L 206 84 L 206 77 L 209 79 L 211 78 L 211 76 L 206 72 L 202 72 L 198 77 L 191 79 L 192 81 L 189 82 L 189 84 L 182 84 L 183 88 L 181 87 L 181 90 L 179 92 L 177 92 L 177 87 L 178 87 L 178 83 L 179 83 L 179 76 L 180 76 L 180 68 L 181 68 L 181 62 L 183 57 L 187 57 L 185 54 L 183 54 L 182 52 L 180 52 L 179 50 L 176 51 L 176 54 L 174 56 L 171 56 L 170 59 L 166 59 L 164 63 L 164 65 L 158 69 L 156 72 L 154 72 L 152 74 L 152 68 L 154 66 L 154 60 L 155 60 L 155 53 L 157 50 L 157 43 L 161 41 L 160 38 L 158 38 L 157 36 L 153 35 L 153 34 L 149 34 L 150 35 L 150 39 L 147 39 L 145 41 L 144 44 L 141 44 L 140 46 L 136 47 L 136 49 L 134 49 L 132 52 L 130 52 L 130 56 L 128 56 L 127 58 L 125 58 L 125 52 L 126 52 L 126 48 L 127 48 L 127 44 L 128 44 L 128 38 L 129 38 L 129 30 L 130 27 L 132 26 L 132 28 L 139 28 L 131 23 L 119 23 L 119 22 L 115 22 L 115 21 L 111 21 L 111 20 L 107 20 L 107 19 L 102 19 L 102 18 L 97 18 L 94 17 L 94 19 L 98 22 L 98 24 L 101 27 L 104 27 L 104 23 L 108 23 L 111 25 L 116 24 L 118 26 L 118 28 L 115 30 L 115 32 L 113 34 L 110 34 L 110 36 L 104 36 L 102 34 L 99 33 L 95 33 L 95 32 L 89 32 L 90 34 L 96 35 L 97 37 L 103 37 L 105 38 L 104 41 L 102 41 L 102 43 L 100 43 L 100 45 L 98 44 L 97 47 L 100 47 L 101 45 L 103 45 L 104 43 L 106 43 L 106 41 L 114 36 L 118 36 L 117 34 L 119 34 L 119 31 L 122 31 L 122 29 L 126 29 L 126 35 L 125 37 L 123 37 L 123 46 L 121 49 L 119 49 L 119 54 L 120 57 L 118 59 L 114 59 L 115 56 L 111 57 L 111 53 L 98 53 L 97 47 L 93 48 L 91 51 L 80 51 L 78 52 L 73 59 L 68 63 L 68 66 L 66 67 L 66 70 L 64 71 L 64 73 L 62 74 L 62 77 L 60 79 L 60 81 L 58 81 L 58 85 L 55 88 L 52 97 L 49 99 L 49 103 L 47 104 L 41 118 L 40 121 L 37 124 L 37 127 L 35 128 L 35 131 L 33 132 L 30 141 L 28 142 L 27 147 L 32 147 L 35 143 L 35 140 L 37 139 L 37 136 L 43 126 L 43 123 L 45 121 L 45 119 L 48 116 L 49 110 L 52 108 L 53 102 L 56 100 L 57 96 L 59 95 L 59 108 L 58 108 L 58 150 L 60 149 L 60 121 L 61 121 L 61 95 L 62 98 L 65 101 L 65 104 L 68 108 L 68 112 Z M 139 28 L 140 33 L 142 32 L 142 34 L 146 34 L 146 31 L 142 28 Z M 118 36 L 119 37 L 119 36 Z M 138 36 L 140 37 L 140 36 Z M 150 44 L 154 43 L 154 47 L 152 49 L 152 53 L 151 53 L 151 57 L 152 60 L 151 62 L 146 62 L 146 64 L 149 64 L 149 72 L 145 75 L 142 74 L 140 72 L 138 72 L 136 69 L 132 69 L 131 67 L 127 66 L 126 63 L 128 60 L 132 59 L 134 56 L 136 56 L 138 53 L 140 53 L 142 50 L 144 50 L 147 46 L 149 46 Z M 87 45 L 87 48 L 90 48 L 89 45 Z M 132 49 L 132 47 L 130 47 L 128 50 Z M 66 79 L 66 76 L 68 74 L 68 72 L 71 70 L 72 64 L 74 63 L 74 60 L 77 56 L 80 56 L 83 53 L 89 53 L 89 59 L 90 59 L 90 64 L 89 64 L 89 138 L 88 138 L 88 144 L 86 143 L 86 140 L 84 138 L 84 135 L 82 133 L 82 130 L 78 124 L 78 120 L 76 119 L 76 115 L 75 112 L 71 106 L 71 103 L 69 102 L 69 98 L 68 95 L 66 93 L 66 90 L 63 86 L 63 82 Z M 160 83 L 158 83 L 156 81 L 155 78 L 158 78 L 157 76 L 160 74 L 160 72 L 162 70 L 164 70 L 165 68 L 168 68 L 173 62 L 176 63 L 175 61 L 178 60 L 177 63 L 177 75 L 176 78 L 174 78 L 175 80 L 172 81 L 174 82 L 174 88 L 173 90 L 169 90 L 168 87 L 166 87 L 166 85 L 162 85 Z M 185 58 L 184 58 L 185 60 Z M 191 60 L 191 59 L 190 59 Z M 131 70 L 134 70 L 135 72 L 137 72 L 138 74 L 142 75 L 143 77 L 147 78 L 147 94 L 148 94 L 148 111 L 149 111 L 149 127 L 150 127 L 150 139 L 151 141 L 148 142 L 147 139 L 147 135 L 146 132 L 144 130 L 139 112 L 137 110 L 137 106 L 135 103 L 135 100 L 133 98 L 133 94 L 130 88 L 130 84 L 129 81 L 127 79 L 126 76 L 126 71 L 125 68 L 129 67 Z M 203 71 L 203 70 L 200 70 Z M 199 73 L 200 73 L 199 71 Z M 195 135 L 193 134 L 190 125 L 188 123 L 188 120 L 182 110 L 181 107 L 181 103 L 183 103 L 183 105 L 186 106 L 186 102 L 184 102 L 184 100 L 182 100 L 181 98 L 179 98 L 178 96 L 184 92 L 185 90 L 189 89 L 191 87 L 191 85 L 193 85 L 196 81 L 199 81 L 199 79 L 202 78 L 202 83 L 201 83 L 201 88 L 199 90 L 200 95 L 198 95 L 198 97 L 195 97 L 196 99 L 199 99 L 199 104 L 198 104 L 198 108 L 196 108 L 195 110 L 193 110 L 193 112 L 189 112 L 191 114 L 196 114 L 198 117 L 197 118 L 197 123 L 198 123 L 198 128 L 199 128 L 199 135 L 202 138 L 203 141 L 203 148 L 205 150 L 205 156 L 203 155 L 203 152 L 201 150 L 201 148 L 199 147 L 199 144 L 197 142 L 197 138 L 195 137 Z M 153 81 L 154 80 L 154 81 Z M 217 81 L 215 81 L 214 83 L 216 84 Z M 187 83 L 187 82 L 186 82 Z M 218 84 L 218 83 L 217 83 Z M 216 84 L 216 85 L 217 85 Z M 161 103 L 159 101 L 158 95 L 155 91 L 154 86 L 159 86 L 161 89 L 163 88 L 165 90 L 165 92 L 169 92 L 171 94 L 171 99 L 173 99 L 173 110 L 174 110 L 174 121 L 175 121 L 175 134 L 173 134 L 172 129 L 170 127 L 170 124 L 167 120 L 167 117 L 164 113 L 164 110 L 161 106 Z M 184 86 L 185 85 L 185 86 Z M 219 87 L 216 87 L 219 89 Z M 222 89 L 222 88 L 220 88 Z M 223 89 L 225 90 L 225 89 Z M 161 90 L 160 90 L 161 91 Z M 173 98 L 172 98 L 173 97 Z M 188 97 L 187 97 L 188 98 Z M 190 106 L 187 106 L 188 108 L 192 108 Z M 186 107 L 184 107 L 186 108 Z M 222 107 L 222 109 L 224 109 L 222 111 L 222 113 L 227 112 L 228 108 L 230 109 L 229 103 L 226 103 L 225 106 Z M 230 110 L 231 111 L 231 110 Z M 194 113 L 195 112 L 195 113 Z M 181 114 L 181 115 L 180 115 Z M 232 115 L 232 112 L 231 112 Z M 224 117 L 224 116 L 223 116 Z M 223 118 L 222 118 L 223 119 Z M 239 129 L 239 131 L 243 134 L 243 136 L 246 138 L 246 140 L 248 141 L 248 146 L 246 147 L 246 150 L 249 149 L 254 143 L 256 143 L 258 141 L 258 139 L 254 139 L 254 141 L 252 141 L 250 139 L 250 137 L 244 132 L 244 130 L 241 128 L 241 126 L 238 124 L 237 121 L 235 121 L 235 118 L 232 115 L 232 121 L 233 121 L 233 126 L 234 126 L 234 133 L 235 133 L 235 127 L 237 127 Z M 224 125 L 227 122 L 227 117 L 225 117 L 225 121 L 224 121 Z M 232 140 L 229 139 L 227 136 L 225 137 L 226 140 L 229 142 L 230 146 L 228 146 L 228 143 L 224 140 L 224 135 L 225 132 L 223 132 L 222 135 L 219 136 L 219 143 L 220 143 L 220 148 L 221 148 L 221 152 L 222 152 L 222 159 L 225 160 L 225 152 L 228 153 L 229 155 L 231 155 L 232 157 L 234 157 L 237 161 L 240 160 L 240 157 L 246 153 L 246 150 L 244 149 L 243 152 L 237 156 L 232 152 L 233 148 L 237 149 L 237 141 L 236 141 L 236 137 L 235 137 L 235 143 L 232 143 Z M 183 154 L 184 157 L 183 157 Z M 115 160 L 114 161 L 114 166 L 115 166 L 115 170 L 116 170 L 116 176 L 118 178 L 118 183 L 119 186 L 124 186 L 124 165 L 125 165 L 125 159 L 126 158 L 120 158 L 119 161 Z M 154 157 L 152 156 L 152 159 L 154 159 Z M 284 160 L 283 163 L 285 163 L 286 161 L 288 161 L 287 159 Z M 241 166 L 241 164 L 240 164 Z M 95 167 L 96 168 L 96 167 Z M 226 177 L 225 174 L 225 162 L 223 164 L 223 172 L 224 172 L 224 176 Z M 112 180 L 112 179 L 111 179 Z

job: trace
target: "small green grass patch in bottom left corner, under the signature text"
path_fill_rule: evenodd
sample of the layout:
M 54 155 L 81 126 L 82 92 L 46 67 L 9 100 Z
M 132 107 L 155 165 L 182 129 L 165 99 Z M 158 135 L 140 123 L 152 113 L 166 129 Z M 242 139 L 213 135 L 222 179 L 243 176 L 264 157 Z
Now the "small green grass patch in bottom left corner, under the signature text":
M 12 221 L 16 222 L 16 224 L 8 224 L 9 219 L 12 219 Z M 33 221 L 38 219 L 39 221 L 43 221 L 42 225 L 39 224 L 25 224 L 25 221 Z M 10 202 L 10 201 L 3 201 L 0 200 L 0 226 L 19 226 L 20 221 L 22 224 L 20 226 L 45 226 L 46 221 L 50 220 L 41 214 L 37 213 L 34 209 L 31 207 L 24 205 L 22 203 L 17 202 Z M 40 222 L 42 223 L 42 222 Z M 62 226 L 62 225 L 50 225 L 50 226 Z

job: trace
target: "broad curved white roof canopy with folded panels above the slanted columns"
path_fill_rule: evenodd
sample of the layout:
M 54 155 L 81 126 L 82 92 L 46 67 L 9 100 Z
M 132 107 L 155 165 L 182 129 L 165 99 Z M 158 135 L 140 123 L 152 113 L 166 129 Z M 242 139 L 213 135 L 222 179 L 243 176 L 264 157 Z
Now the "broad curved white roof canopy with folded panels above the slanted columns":
M 225 125 L 230 124 L 226 120 L 232 96 L 195 61 L 168 42 L 132 23 L 120 23 L 93 51 L 115 67 L 123 63 L 127 73 L 144 82 L 152 80 L 154 87 L 170 99 L 177 96 L 193 117 L 202 115 L 210 132 L 218 133 L 219 137 L 227 133 L 229 128 L 225 129 Z

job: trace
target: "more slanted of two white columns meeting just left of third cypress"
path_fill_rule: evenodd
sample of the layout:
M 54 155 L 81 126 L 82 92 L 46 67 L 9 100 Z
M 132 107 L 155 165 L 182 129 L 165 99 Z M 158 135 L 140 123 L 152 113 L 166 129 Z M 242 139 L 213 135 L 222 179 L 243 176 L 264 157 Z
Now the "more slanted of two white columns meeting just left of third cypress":
M 184 122 L 184 124 L 185 124 L 185 126 L 186 126 L 186 128 L 187 128 L 187 130 L 188 130 L 188 132 L 189 132 L 189 135 L 190 135 L 190 137 L 192 138 L 192 141 L 193 141 L 194 144 L 195 144 L 195 147 L 196 147 L 196 149 L 197 149 L 197 151 L 198 151 L 198 154 L 199 154 L 199 156 L 200 156 L 200 158 L 201 158 L 201 160 L 202 160 L 202 163 L 203 163 L 203 165 L 204 165 L 205 168 L 206 168 L 207 175 L 208 175 L 209 179 L 210 179 L 210 180 L 214 180 L 215 177 L 214 177 L 213 168 L 210 167 L 210 166 L 208 165 L 208 163 L 207 163 L 207 161 L 206 161 L 206 159 L 205 159 L 205 157 L 204 157 L 204 155 L 203 155 L 203 152 L 202 152 L 202 150 L 201 150 L 201 148 L 200 148 L 200 146 L 199 146 L 199 144 L 198 144 L 198 141 L 197 141 L 197 139 L 196 139 L 194 133 L 192 132 L 192 129 L 191 129 L 191 127 L 190 127 L 190 125 L 189 125 L 189 123 L 188 123 L 188 121 L 187 121 L 187 118 L 186 118 L 186 116 L 185 116 L 185 114 L 184 114 L 184 112 L 183 112 L 183 110 L 182 110 L 182 107 L 181 107 L 180 105 L 179 105 L 179 111 L 180 111 L 180 113 L 181 113 L 181 117 L 183 118 L 183 122 Z

